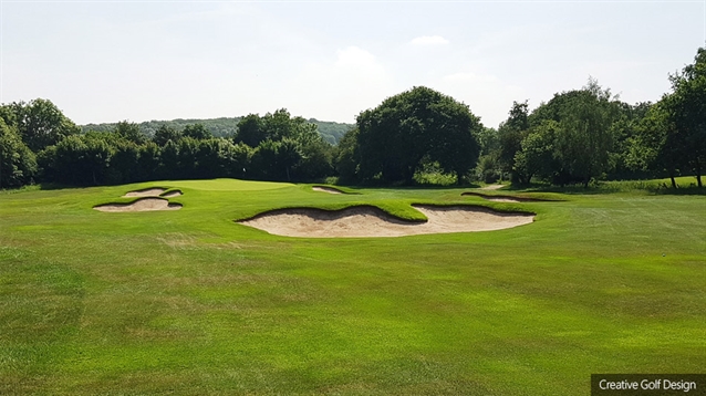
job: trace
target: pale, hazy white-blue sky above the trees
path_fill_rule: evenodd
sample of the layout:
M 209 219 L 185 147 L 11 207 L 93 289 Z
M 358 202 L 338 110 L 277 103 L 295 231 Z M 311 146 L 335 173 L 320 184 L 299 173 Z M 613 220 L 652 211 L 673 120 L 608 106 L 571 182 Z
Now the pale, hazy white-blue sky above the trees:
M 497 127 L 589 76 L 656 102 L 706 44 L 706 0 L 0 0 L 0 103 L 48 98 L 76 124 L 354 123 L 428 86 Z

